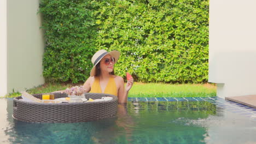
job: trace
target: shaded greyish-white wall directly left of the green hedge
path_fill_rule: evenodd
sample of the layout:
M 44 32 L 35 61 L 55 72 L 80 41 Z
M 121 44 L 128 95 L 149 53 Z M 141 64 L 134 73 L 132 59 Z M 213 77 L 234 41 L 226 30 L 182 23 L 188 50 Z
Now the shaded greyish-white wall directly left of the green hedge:
M 24 91 L 26 88 L 44 83 L 42 75 L 44 32 L 39 29 L 42 22 L 41 16 L 37 14 L 39 0 L 5 0 L 5 2 L 7 2 L 5 7 L 7 40 L 1 38 L 1 41 L 7 41 L 7 93 L 9 93 L 13 90 Z M 1 43 L 1 47 L 2 45 Z M 0 96 L 3 93 L 4 91 L 1 90 Z

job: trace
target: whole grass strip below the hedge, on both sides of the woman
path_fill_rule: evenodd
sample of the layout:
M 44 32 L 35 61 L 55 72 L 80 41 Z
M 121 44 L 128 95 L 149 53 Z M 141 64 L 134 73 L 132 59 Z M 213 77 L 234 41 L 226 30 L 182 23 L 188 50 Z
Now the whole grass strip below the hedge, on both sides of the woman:
M 83 83 L 77 84 L 83 85 Z M 75 86 L 66 83 L 45 83 L 42 86 L 28 89 L 27 92 L 49 93 Z M 167 83 L 138 83 L 135 82 L 129 92 L 129 97 L 213 97 L 216 96 L 216 86 L 205 84 L 167 84 Z M 10 93 L 6 97 L 18 97 L 19 92 Z

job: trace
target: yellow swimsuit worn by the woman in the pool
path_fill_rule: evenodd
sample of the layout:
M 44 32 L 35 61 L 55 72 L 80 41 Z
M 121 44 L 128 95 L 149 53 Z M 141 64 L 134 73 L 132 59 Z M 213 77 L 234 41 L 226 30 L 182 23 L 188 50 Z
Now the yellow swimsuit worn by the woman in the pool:
M 108 84 L 104 89 L 104 92 L 101 91 L 100 79 L 98 79 L 98 77 L 95 77 L 94 83 L 92 83 L 90 93 L 107 93 L 107 94 L 113 94 L 115 96 L 118 96 L 117 85 L 115 85 L 114 77 L 111 76 L 109 78 Z

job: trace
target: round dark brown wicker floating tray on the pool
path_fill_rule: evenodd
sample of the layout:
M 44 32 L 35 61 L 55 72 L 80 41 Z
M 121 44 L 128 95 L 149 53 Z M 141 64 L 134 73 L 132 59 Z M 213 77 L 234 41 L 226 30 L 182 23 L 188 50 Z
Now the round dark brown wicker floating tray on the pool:
M 42 94 L 33 94 L 42 99 Z M 65 98 L 65 93 L 54 93 L 56 98 Z M 86 99 L 101 99 L 113 97 L 108 101 L 87 103 L 36 103 L 14 98 L 13 117 L 24 122 L 60 122 L 75 123 L 88 122 L 96 119 L 113 117 L 117 113 L 118 98 L 114 95 L 103 93 L 85 93 Z

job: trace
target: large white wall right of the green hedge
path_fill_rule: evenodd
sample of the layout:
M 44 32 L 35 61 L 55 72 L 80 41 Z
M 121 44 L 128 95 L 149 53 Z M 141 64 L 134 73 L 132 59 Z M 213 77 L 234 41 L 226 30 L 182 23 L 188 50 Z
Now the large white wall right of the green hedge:
M 209 82 L 219 97 L 256 94 L 254 0 L 210 1 Z

